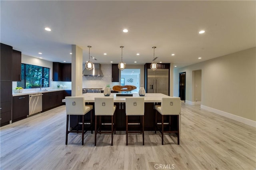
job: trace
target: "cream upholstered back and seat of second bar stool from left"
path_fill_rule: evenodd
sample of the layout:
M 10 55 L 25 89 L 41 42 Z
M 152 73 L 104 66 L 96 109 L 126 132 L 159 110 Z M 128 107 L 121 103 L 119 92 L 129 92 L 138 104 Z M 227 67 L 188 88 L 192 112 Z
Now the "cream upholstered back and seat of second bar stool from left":
M 113 97 L 95 97 L 94 107 L 95 115 L 114 115 L 116 110 Z

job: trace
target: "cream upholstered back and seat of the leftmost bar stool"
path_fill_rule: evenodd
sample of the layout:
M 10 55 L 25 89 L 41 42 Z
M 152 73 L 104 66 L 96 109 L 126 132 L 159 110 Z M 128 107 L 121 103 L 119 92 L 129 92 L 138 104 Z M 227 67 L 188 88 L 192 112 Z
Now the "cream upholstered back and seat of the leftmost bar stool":
M 90 107 L 86 107 L 84 97 L 65 97 L 67 115 L 84 115 L 90 111 Z

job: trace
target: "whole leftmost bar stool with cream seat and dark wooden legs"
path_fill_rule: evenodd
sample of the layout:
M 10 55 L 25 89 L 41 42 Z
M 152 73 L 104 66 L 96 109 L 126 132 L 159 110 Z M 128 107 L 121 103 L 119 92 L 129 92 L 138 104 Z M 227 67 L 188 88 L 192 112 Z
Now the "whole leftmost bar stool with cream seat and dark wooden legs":
M 66 113 L 67 113 L 67 123 L 66 123 L 66 144 L 68 144 L 68 134 L 71 132 L 82 133 L 82 145 L 84 145 L 84 116 L 90 111 L 91 114 L 91 126 L 92 126 L 92 105 L 85 105 L 84 97 L 65 97 L 66 101 Z M 77 130 L 68 130 L 68 123 L 70 115 L 82 116 L 82 130 L 78 130 L 79 121 L 77 122 Z M 74 128 L 75 128 L 74 127 Z

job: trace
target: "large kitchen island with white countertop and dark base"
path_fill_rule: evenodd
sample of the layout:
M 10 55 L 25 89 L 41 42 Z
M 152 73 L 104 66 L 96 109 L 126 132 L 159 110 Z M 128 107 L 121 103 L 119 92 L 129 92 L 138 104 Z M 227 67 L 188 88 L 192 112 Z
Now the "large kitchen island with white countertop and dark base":
M 116 96 L 118 93 L 111 93 L 109 97 L 114 97 L 114 105 L 116 105 L 116 130 L 126 130 L 126 114 L 125 114 L 125 96 Z M 132 97 L 139 97 L 138 93 L 132 93 Z M 84 97 L 84 102 L 86 104 L 90 104 L 94 106 L 94 98 L 95 97 L 105 97 L 103 93 L 85 93 L 81 95 Z M 145 115 L 144 115 L 144 129 L 148 131 L 154 131 L 154 123 L 155 123 L 155 105 L 160 105 L 162 97 L 169 97 L 167 95 L 164 95 L 162 93 L 146 93 L 144 96 L 144 102 L 145 102 Z M 62 100 L 62 102 L 65 102 L 65 99 Z M 94 115 L 94 109 L 93 109 L 93 115 Z M 79 122 L 82 122 L 82 118 L 71 115 L 70 116 L 70 128 L 73 128 L 77 124 L 77 120 L 79 119 Z M 180 127 L 180 119 L 179 117 L 179 127 Z M 85 116 L 85 121 L 90 120 L 90 114 Z M 160 114 L 158 114 L 158 121 L 161 120 Z M 177 115 L 172 115 L 170 118 L 168 116 L 165 116 L 164 121 L 171 123 L 171 128 L 173 130 L 177 130 Z M 109 122 L 110 119 L 102 118 L 102 123 Z M 93 122 L 94 116 L 93 116 Z M 138 123 L 140 122 L 139 117 L 136 116 L 130 116 L 129 122 Z M 134 125 L 134 127 L 129 128 L 129 130 L 136 130 L 140 127 L 140 125 Z M 169 128 L 166 126 L 166 128 Z

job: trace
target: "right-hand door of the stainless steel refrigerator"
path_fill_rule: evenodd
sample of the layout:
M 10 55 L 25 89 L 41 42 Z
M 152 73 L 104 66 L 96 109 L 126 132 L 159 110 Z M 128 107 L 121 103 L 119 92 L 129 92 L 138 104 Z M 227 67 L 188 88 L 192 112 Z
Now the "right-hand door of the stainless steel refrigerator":
M 164 95 L 169 95 L 169 70 L 168 69 L 156 69 L 155 78 L 155 93 L 162 93 Z

